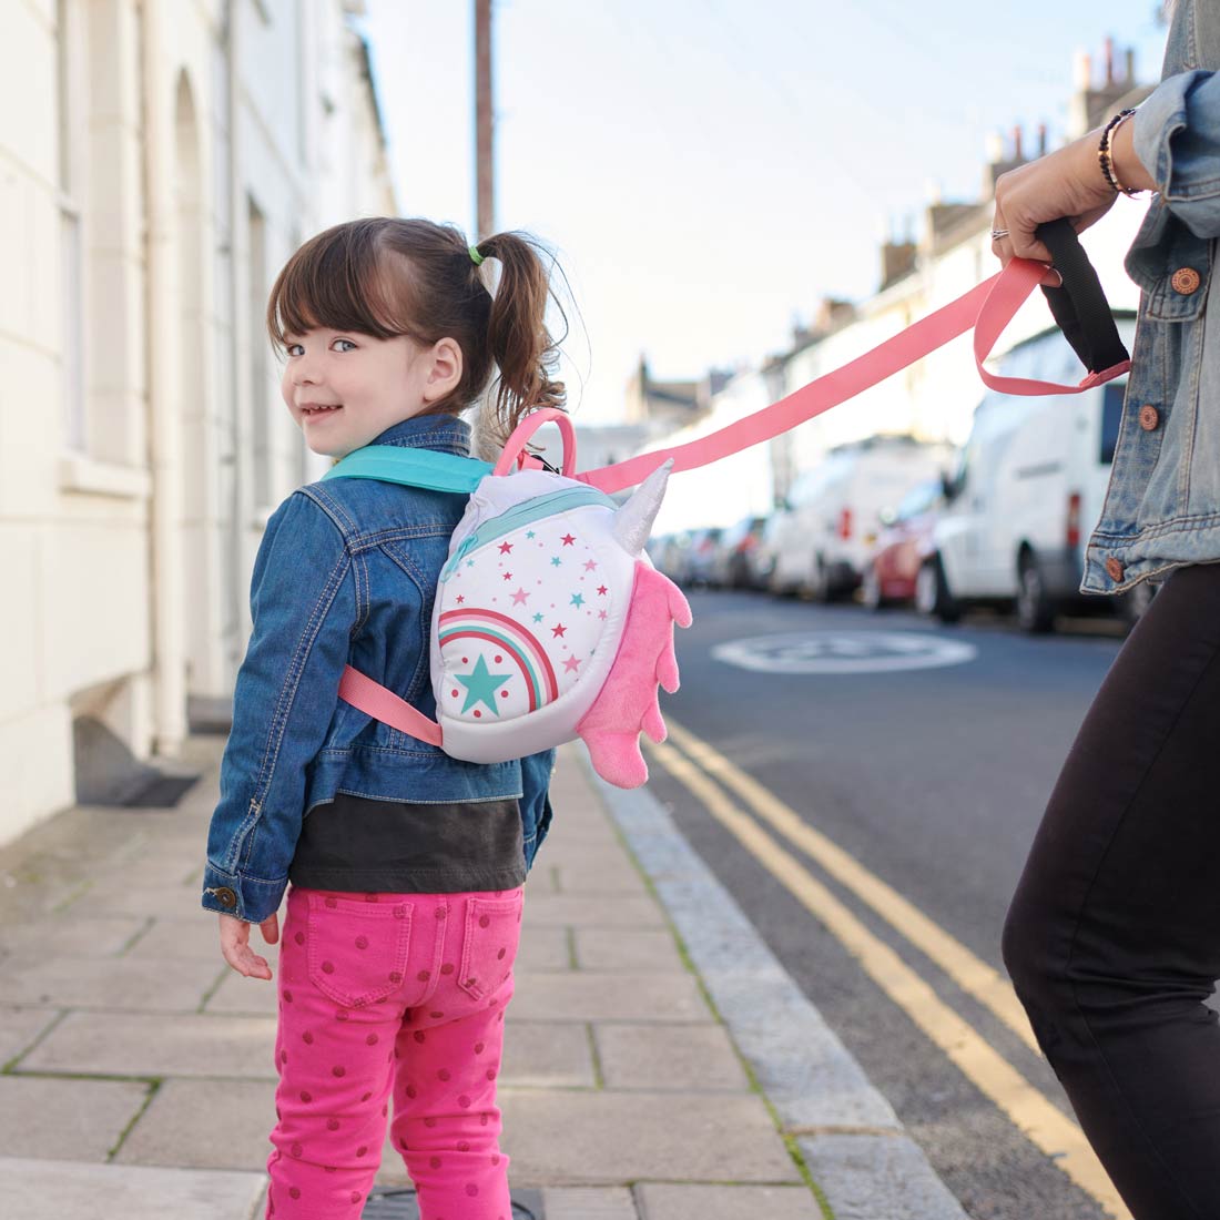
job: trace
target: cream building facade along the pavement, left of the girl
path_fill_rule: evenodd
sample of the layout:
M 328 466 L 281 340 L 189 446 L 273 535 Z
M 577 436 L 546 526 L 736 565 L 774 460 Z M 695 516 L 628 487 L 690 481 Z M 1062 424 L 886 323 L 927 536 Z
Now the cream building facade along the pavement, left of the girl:
M 311 233 L 394 209 L 360 9 L 6 6 L 0 843 L 123 799 L 232 697 L 262 526 L 318 472 L 267 290 Z

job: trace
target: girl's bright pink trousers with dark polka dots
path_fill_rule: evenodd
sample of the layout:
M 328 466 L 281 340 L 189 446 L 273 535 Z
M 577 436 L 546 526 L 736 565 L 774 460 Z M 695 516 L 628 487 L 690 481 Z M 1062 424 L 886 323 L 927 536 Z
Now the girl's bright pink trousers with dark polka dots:
M 522 891 L 289 888 L 267 1216 L 356 1220 L 390 1138 L 422 1220 L 511 1220 L 495 1077 Z

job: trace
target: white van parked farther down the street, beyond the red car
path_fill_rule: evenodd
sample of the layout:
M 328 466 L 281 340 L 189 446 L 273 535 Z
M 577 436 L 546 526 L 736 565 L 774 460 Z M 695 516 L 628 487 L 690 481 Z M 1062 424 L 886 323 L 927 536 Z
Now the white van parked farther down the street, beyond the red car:
M 905 436 L 878 436 L 832 449 L 798 476 L 787 504 L 766 532 L 769 586 L 810 593 L 821 601 L 850 593 L 880 529 L 916 483 L 936 478 L 953 450 Z

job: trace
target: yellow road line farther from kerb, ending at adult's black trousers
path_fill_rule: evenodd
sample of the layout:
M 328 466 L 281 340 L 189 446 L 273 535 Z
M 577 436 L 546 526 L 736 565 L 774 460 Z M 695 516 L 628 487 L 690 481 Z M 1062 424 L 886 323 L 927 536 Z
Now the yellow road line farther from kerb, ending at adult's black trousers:
M 897 889 L 871 874 L 820 831 L 814 830 L 795 810 L 753 776 L 730 762 L 719 750 L 700 741 L 689 730 L 675 725 L 672 720 L 666 720 L 666 728 L 673 743 L 681 747 L 700 770 L 715 776 L 736 792 L 762 821 L 770 824 L 789 843 L 816 860 L 836 881 L 867 903 L 916 949 L 927 954 L 967 996 L 972 996 L 999 1017 L 1031 1050 L 1042 1054 L 1025 1009 L 1021 1008 L 1021 1002 L 1006 978 L 930 920 Z

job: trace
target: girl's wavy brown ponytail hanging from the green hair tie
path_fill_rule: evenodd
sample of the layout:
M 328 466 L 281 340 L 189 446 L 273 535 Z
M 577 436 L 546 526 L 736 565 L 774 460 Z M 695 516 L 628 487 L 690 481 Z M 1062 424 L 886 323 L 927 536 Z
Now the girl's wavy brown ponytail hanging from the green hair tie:
M 566 410 L 564 383 L 551 379 L 559 365 L 559 345 L 547 329 L 551 289 L 538 246 L 529 238 L 497 233 L 472 249 L 500 265 L 487 323 L 488 348 L 500 376 L 494 400 L 484 404 L 483 423 L 503 447 L 527 412 L 542 406 Z

